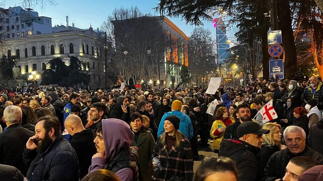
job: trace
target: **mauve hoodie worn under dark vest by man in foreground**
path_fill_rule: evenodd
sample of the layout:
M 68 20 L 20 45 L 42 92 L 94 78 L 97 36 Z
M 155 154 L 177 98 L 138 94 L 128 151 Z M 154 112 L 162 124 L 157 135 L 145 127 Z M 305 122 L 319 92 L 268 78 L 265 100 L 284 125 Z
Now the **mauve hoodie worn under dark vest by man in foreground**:
M 93 158 L 92 164 L 88 169 L 89 173 L 98 169 L 107 168 L 111 162 L 117 164 L 118 162 L 123 161 L 122 158 L 121 160 L 116 161 L 115 157 L 118 157 L 120 153 L 125 152 L 124 150 L 130 151 L 130 145 L 134 140 L 135 134 L 131 131 L 130 126 L 126 122 L 118 119 L 106 119 L 102 120 L 102 136 L 105 146 L 105 158 Z M 128 154 L 130 155 L 130 153 Z M 113 168 L 111 171 L 113 171 Z M 132 181 L 134 178 L 133 175 L 138 173 L 134 173 L 132 169 L 126 167 L 117 170 L 115 174 L 121 181 Z

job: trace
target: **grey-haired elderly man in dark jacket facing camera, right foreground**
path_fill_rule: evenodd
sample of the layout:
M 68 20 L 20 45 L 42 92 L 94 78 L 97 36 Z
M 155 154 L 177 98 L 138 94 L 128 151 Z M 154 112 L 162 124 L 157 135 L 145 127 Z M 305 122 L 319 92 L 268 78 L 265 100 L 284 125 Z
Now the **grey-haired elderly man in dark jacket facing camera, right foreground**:
M 323 156 L 305 145 L 305 131 L 298 126 L 291 125 L 284 130 L 284 140 L 287 148 L 274 153 L 264 170 L 264 181 L 280 181 L 285 175 L 288 162 L 297 156 L 309 156 L 323 164 Z

